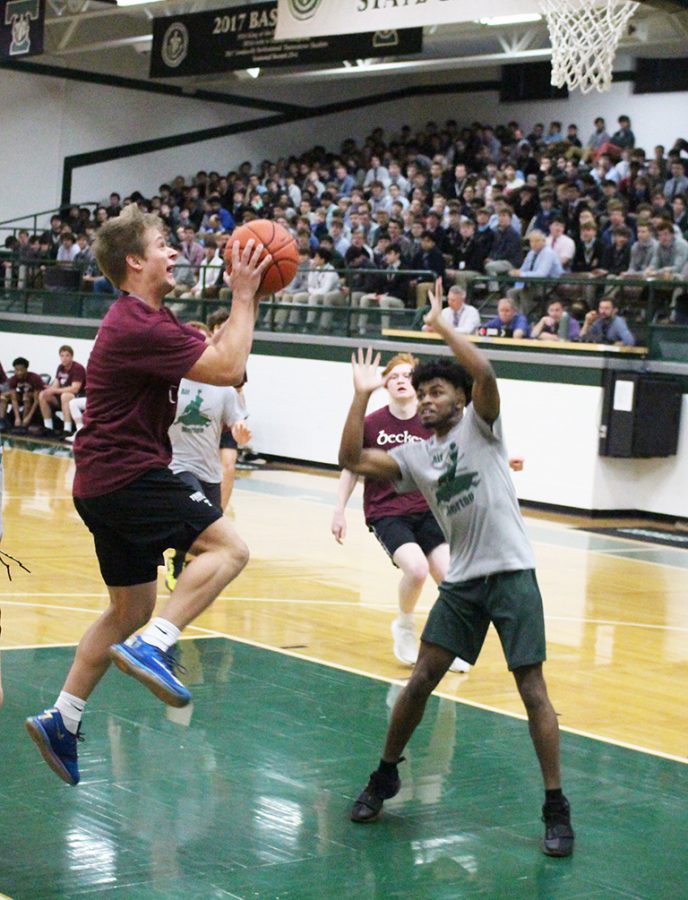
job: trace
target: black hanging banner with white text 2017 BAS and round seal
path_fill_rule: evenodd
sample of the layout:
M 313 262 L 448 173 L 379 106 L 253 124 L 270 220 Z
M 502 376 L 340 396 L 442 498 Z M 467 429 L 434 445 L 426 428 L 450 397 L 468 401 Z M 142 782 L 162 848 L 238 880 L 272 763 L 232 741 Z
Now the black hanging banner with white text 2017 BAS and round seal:
M 275 40 L 277 3 L 233 6 L 153 22 L 151 78 L 208 75 L 234 69 L 341 62 L 420 53 L 423 29 Z

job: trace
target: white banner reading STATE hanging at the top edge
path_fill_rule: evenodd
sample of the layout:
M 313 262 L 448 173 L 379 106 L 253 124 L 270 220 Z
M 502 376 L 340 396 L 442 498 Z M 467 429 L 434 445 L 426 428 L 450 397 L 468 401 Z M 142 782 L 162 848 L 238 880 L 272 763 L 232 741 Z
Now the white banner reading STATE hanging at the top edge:
M 278 40 L 541 14 L 538 0 L 278 0 L 277 9 Z

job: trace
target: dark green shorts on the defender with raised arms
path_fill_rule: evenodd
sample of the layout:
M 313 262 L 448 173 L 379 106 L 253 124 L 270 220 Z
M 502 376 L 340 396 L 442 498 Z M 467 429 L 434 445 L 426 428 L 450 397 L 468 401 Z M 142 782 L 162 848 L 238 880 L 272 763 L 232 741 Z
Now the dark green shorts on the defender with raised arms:
M 545 619 L 534 569 L 498 572 L 470 581 L 443 581 L 422 639 L 473 665 L 492 622 L 509 671 L 544 662 Z

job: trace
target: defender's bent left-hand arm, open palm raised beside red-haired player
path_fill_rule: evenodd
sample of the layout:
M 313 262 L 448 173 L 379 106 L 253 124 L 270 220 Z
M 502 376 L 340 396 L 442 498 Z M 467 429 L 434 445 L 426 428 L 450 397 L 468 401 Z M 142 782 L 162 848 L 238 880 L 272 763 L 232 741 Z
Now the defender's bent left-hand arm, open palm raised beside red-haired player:
M 363 449 L 363 423 L 368 401 L 373 391 L 382 386 L 378 372 L 380 354 L 373 357 L 371 347 L 365 354 L 359 347 L 358 353 L 351 356 L 351 364 L 354 369 L 354 399 L 339 445 L 339 465 L 356 475 L 397 481 L 401 478 L 401 470 L 389 453 Z

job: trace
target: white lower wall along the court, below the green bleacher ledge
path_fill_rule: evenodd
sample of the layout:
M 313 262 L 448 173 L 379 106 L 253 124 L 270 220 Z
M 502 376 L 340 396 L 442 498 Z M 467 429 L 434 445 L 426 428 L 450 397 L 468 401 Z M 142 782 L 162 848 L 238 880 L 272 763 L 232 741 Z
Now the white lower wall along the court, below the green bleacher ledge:
M 26 356 L 36 372 L 54 373 L 58 348 L 74 347 L 88 361 L 92 341 L 0 332 L 0 361 Z M 688 509 L 688 397 L 679 449 L 666 459 L 597 455 L 602 389 L 500 379 L 509 452 L 525 459 L 514 478 L 518 496 L 582 510 L 642 510 L 685 517 Z M 351 402 L 348 363 L 254 353 L 246 388 L 254 444 L 263 453 L 336 465 Z M 370 410 L 385 402 L 374 395 Z

